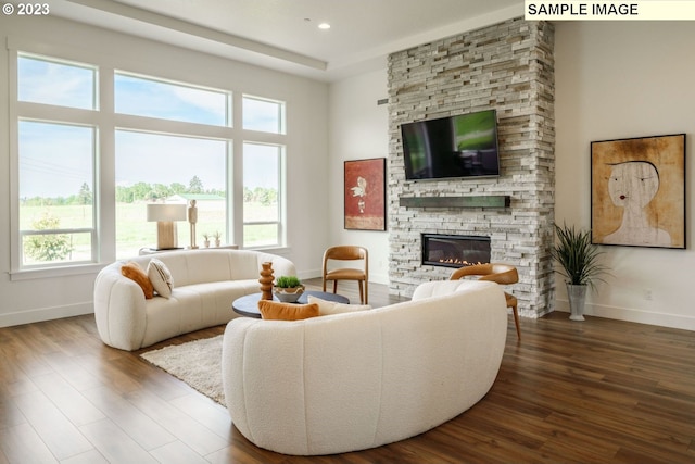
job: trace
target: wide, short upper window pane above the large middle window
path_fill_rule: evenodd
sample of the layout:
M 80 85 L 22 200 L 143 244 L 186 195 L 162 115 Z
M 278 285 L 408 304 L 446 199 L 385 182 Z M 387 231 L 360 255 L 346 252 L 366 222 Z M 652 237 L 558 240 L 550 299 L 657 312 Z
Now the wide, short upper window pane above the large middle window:
M 228 95 L 125 73 L 114 76 L 116 113 L 226 126 Z

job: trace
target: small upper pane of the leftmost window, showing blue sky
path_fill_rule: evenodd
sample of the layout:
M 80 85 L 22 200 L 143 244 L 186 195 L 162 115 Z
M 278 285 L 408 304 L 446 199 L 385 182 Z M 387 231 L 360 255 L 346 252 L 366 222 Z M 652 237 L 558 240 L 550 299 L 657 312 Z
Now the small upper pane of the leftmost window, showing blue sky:
M 17 100 L 92 110 L 96 74 L 93 66 L 20 54 Z

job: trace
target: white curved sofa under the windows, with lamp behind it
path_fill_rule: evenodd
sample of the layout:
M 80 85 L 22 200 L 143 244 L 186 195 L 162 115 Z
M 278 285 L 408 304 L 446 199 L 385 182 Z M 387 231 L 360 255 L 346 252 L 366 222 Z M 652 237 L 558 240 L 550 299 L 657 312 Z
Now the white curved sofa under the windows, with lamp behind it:
M 151 259 L 172 273 L 168 299 L 146 300 L 142 288 L 121 273 L 137 262 L 143 269 Z M 261 263 L 270 261 L 274 275 L 296 275 L 286 258 L 251 250 L 185 250 L 117 261 L 94 281 L 94 317 L 102 341 L 132 351 L 193 330 L 226 324 L 237 316 L 235 299 L 260 292 Z

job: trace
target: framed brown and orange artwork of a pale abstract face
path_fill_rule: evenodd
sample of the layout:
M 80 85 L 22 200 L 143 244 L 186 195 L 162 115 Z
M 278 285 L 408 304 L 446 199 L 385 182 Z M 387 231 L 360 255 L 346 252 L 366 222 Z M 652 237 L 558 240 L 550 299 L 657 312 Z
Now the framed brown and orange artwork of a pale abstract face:
M 685 134 L 591 143 L 592 242 L 685 248 Z

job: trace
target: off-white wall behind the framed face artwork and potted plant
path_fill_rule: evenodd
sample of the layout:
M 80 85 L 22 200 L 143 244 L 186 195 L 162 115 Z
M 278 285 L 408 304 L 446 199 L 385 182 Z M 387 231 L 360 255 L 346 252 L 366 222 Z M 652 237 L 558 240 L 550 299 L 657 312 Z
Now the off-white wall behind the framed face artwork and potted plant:
M 556 222 L 590 227 L 591 141 L 687 135 L 687 249 L 602 247 L 612 277 L 589 297 L 586 312 L 693 330 L 695 27 L 686 22 L 563 22 L 556 24 L 555 38 Z M 556 285 L 557 306 L 567 311 L 561 278 Z

